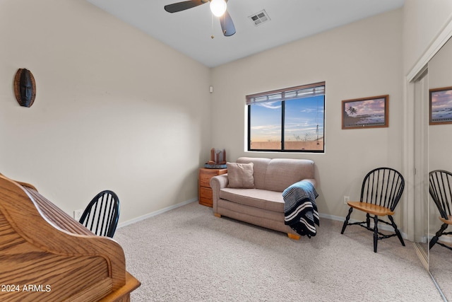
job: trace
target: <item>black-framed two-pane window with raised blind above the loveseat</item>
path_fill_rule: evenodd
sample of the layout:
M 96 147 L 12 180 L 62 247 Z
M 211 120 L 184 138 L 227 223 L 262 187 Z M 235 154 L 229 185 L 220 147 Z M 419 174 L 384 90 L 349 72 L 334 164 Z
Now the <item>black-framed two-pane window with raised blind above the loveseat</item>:
M 248 151 L 324 152 L 325 82 L 246 95 Z

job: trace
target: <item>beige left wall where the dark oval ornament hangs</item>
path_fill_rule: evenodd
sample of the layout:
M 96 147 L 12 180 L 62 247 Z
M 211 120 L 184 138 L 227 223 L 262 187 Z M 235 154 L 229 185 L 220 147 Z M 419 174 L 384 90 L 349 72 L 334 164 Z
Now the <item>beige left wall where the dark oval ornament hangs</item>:
M 121 221 L 196 200 L 210 70 L 78 0 L 0 2 L 0 173 L 69 214 L 97 192 Z M 18 68 L 35 76 L 18 105 Z

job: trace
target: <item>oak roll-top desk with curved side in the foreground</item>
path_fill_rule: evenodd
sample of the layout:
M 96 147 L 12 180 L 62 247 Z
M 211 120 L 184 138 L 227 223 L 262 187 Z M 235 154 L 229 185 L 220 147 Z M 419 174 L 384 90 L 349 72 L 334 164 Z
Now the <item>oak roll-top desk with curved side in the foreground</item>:
M 0 301 L 130 301 L 124 251 L 0 174 Z

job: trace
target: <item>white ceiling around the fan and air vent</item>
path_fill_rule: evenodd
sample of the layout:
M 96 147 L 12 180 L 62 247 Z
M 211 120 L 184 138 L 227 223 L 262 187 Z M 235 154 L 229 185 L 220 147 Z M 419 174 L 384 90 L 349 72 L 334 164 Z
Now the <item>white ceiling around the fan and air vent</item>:
M 167 13 L 179 0 L 87 0 L 209 67 L 256 54 L 385 11 L 405 0 L 229 0 L 237 33 L 222 35 L 209 4 Z M 254 25 L 249 16 L 266 10 L 270 21 Z M 210 36 L 214 35 L 214 38 Z

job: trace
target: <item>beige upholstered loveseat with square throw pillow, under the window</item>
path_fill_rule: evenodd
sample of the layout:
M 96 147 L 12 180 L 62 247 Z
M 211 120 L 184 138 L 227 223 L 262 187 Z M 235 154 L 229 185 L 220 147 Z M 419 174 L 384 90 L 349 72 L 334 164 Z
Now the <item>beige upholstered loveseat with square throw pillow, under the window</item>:
M 299 235 L 285 225 L 283 191 L 301 180 L 316 187 L 314 161 L 241 157 L 227 163 L 227 174 L 210 178 L 213 214 Z

